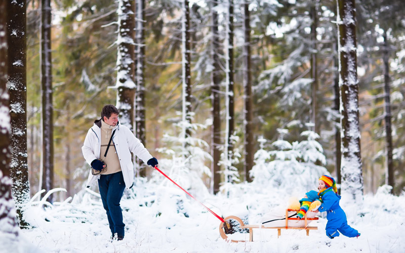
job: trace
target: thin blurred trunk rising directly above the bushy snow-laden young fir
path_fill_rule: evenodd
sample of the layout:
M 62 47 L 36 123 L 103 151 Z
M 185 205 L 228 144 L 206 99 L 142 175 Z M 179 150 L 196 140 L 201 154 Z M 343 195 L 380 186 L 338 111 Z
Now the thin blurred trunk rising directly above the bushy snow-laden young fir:
M 312 43 L 312 52 L 311 52 L 311 79 L 312 79 L 312 123 L 313 123 L 313 131 L 319 134 L 319 123 L 316 120 L 317 114 L 317 99 L 316 93 L 318 90 L 318 74 L 317 74 L 317 66 L 316 66 L 316 58 L 317 58 L 317 48 L 316 48 L 316 27 L 317 27 L 317 5 L 318 1 L 314 1 L 313 5 L 311 6 L 311 43 Z

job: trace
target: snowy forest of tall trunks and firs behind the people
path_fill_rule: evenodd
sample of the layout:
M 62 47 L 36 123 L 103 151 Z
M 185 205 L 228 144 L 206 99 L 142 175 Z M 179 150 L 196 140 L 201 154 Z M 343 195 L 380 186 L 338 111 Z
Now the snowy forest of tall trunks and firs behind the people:
M 34 195 L 52 206 L 84 194 L 82 146 L 106 104 L 191 191 L 310 188 L 325 172 L 354 202 L 404 192 L 402 0 L 0 0 L 0 11 L 0 224 L 12 234 L 32 226 Z M 157 182 L 133 160 L 136 180 Z

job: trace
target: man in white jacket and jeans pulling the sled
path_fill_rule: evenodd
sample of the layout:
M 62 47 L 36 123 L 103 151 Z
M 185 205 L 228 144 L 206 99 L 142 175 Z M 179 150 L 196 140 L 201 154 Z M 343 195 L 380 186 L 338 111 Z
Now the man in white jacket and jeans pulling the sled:
M 147 161 L 148 165 L 157 165 L 156 158 L 152 157 L 131 130 L 119 124 L 118 113 L 115 106 L 105 105 L 101 110 L 101 119 L 94 121 L 82 147 L 83 156 L 92 166 L 87 187 L 98 180 L 112 233 L 111 240 L 124 238 L 125 224 L 119 202 L 124 189 L 130 189 L 134 184 L 131 152 L 142 161 Z

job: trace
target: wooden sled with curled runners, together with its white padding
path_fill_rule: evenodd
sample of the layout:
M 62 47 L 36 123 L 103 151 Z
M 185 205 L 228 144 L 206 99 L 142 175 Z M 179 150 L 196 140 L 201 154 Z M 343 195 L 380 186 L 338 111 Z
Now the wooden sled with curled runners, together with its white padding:
M 276 219 L 276 220 L 272 220 L 272 221 L 266 221 L 260 225 L 245 225 L 244 222 L 236 217 L 236 216 L 228 216 L 226 217 L 225 223 L 221 222 L 221 224 L 219 225 L 219 233 L 221 234 L 221 237 L 225 240 L 230 240 L 232 242 L 241 242 L 241 241 L 245 241 L 245 240 L 232 240 L 232 239 L 228 239 L 227 234 L 233 234 L 235 232 L 239 232 L 239 233 L 247 233 L 247 229 L 249 229 L 249 241 L 253 241 L 253 229 L 277 229 L 277 238 L 281 235 L 281 229 L 299 229 L 299 230 L 306 230 L 307 231 L 307 236 L 309 236 L 309 230 L 317 230 L 318 227 L 310 227 L 308 226 L 308 223 L 314 220 L 318 220 L 318 217 L 314 217 L 315 213 L 312 211 L 309 211 L 305 214 L 304 218 L 302 218 L 301 220 L 298 218 L 292 218 L 293 216 L 296 215 L 296 213 L 294 215 L 290 215 L 289 216 L 289 212 L 297 212 L 298 210 L 294 210 L 294 209 L 286 209 L 286 217 L 282 218 L 282 219 Z M 309 213 L 309 215 L 312 218 L 308 218 L 307 214 Z M 313 213 L 313 214 L 312 214 Z M 271 223 L 273 221 L 280 221 L 280 220 L 285 220 L 285 226 L 276 226 L 276 227 L 267 227 L 264 226 L 263 224 L 265 223 Z M 293 222 L 294 221 L 294 222 Z M 284 222 L 284 221 L 283 221 Z M 293 223 L 292 223 L 293 222 Z M 298 222 L 302 222 L 302 223 L 298 223 Z M 238 224 L 239 225 L 238 225 Z M 299 226 L 294 226 L 298 224 Z

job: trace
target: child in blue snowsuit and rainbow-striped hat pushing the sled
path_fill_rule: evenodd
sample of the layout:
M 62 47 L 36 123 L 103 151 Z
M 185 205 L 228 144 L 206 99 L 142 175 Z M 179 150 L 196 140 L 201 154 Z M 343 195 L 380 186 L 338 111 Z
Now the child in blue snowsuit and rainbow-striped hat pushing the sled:
M 326 235 L 330 238 L 339 236 L 338 230 L 347 237 L 358 237 L 360 233 L 347 225 L 347 218 L 344 210 L 340 207 L 340 196 L 337 194 L 336 182 L 333 178 L 323 175 L 318 182 L 319 198 L 322 204 L 319 212 L 327 212 L 328 223 L 326 224 Z

